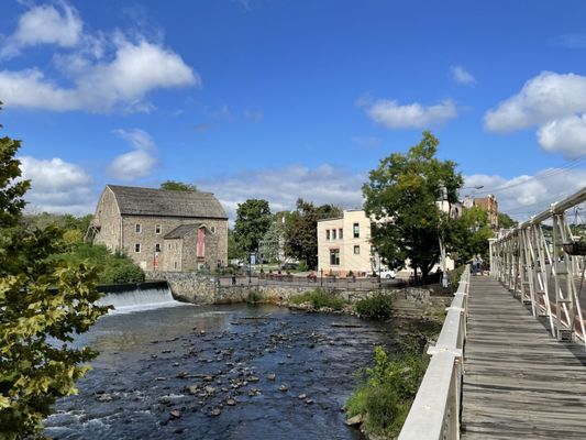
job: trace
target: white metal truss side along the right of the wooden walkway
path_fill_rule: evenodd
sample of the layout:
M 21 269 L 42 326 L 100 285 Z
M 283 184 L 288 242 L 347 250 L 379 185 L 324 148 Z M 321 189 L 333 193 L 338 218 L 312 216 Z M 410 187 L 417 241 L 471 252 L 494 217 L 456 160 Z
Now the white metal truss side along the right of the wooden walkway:
M 586 342 L 579 297 L 586 242 L 567 222 L 567 211 L 584 201 L 586 187 L 490 241 L 493 276 L 530 305 L 533 316 L 548 317 L 559 340 L 577 336 Z M 543 223 L 550 219 L 546 237 Z

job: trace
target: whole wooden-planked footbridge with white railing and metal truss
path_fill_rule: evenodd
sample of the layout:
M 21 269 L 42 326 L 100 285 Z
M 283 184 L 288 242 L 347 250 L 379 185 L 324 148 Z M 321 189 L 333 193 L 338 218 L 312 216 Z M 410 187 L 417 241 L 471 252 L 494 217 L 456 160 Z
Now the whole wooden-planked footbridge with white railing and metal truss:
M 501 233 L 490 276 L 465 271 L 400 440 L 586 439 L 585 257 L 566 222 L 585 200 Z

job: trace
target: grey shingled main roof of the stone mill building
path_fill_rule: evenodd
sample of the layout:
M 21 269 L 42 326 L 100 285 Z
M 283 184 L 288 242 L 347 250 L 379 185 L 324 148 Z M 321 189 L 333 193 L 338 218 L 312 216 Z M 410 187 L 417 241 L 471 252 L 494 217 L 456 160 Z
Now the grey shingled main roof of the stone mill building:
M 121 215 L 228 219 L 211 193 L 107 185 L 115 196 Z

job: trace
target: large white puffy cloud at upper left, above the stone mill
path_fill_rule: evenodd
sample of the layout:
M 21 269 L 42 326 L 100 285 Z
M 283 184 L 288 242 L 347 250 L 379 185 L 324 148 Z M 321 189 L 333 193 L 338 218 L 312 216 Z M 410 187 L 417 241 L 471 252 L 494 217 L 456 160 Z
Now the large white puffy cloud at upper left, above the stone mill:
M 79 62 L 70 88 L 47 80 L 37 69 L 0 70 L 0 96 L 7 108 L 136 111 L 150 108 L 143 99 L 151 90 L 200 84 L 199 76 L 172 51 L 146 41 L 118 44 L 111 62 Z

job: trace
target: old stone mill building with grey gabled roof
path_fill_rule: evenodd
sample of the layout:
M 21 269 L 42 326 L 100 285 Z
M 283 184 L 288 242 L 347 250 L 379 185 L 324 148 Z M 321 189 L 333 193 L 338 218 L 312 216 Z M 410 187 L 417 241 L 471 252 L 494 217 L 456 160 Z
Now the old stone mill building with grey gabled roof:
M 213 270 L 228 262 L 228 216 L 211 193 L 107 185 L 87 239 L 144 271 Z

